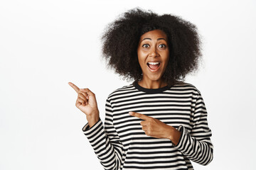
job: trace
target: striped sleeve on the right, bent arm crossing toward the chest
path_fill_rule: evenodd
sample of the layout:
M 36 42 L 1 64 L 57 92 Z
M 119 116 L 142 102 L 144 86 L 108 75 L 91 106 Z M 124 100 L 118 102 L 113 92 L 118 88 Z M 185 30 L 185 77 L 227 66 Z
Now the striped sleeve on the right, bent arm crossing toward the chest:
M 181 138 L 176 145 L 176 149 L 180 150 L 193 162 L 207 165 L 213 159 L 213 145 L 210 141 L 212 133 L 208 128 L 206 106 L 200 92 L 196 97 L 192 115 L 192 130 L 188 130 L 183 125 L 178 127 Z

